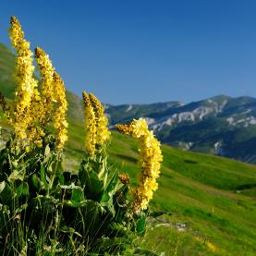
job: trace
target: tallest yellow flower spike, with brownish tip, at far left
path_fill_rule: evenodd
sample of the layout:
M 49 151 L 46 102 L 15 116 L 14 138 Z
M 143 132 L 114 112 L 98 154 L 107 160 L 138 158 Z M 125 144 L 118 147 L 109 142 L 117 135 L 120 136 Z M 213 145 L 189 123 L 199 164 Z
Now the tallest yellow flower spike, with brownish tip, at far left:
M 27 129 L 31 122 L 30 104 L 34 91 L 36 91 L 37 81 L 33 78 L 33 59 L 30 51 L 30 43 L 24 39 L 24 32 L 18 19 L 11 17 L 9 37 L 12 46 L 17 51 L 15 65 L 15 110 L 12 120 L 14 132 L 18 142 L 27 140 Z

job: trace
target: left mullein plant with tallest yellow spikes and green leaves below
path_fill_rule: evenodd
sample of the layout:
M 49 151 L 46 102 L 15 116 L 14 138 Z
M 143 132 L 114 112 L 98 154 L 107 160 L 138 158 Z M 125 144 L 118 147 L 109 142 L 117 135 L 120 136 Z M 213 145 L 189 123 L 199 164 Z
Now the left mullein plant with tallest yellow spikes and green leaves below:
M 45 214 L 57 213 L 57 199 L 53 195 L 58 180 L 63 179 L 67 100 L 63 80 L 52 67 L 49 56 L 39 47 L 33 55 L 15 17 L 10 19 L 9 37 L 17 52 L 16 89 L 13 104 L 6 104 L 1 97 L 2 110 L 12 132 L 0 152 L 0 254 L 21 253 L 25 249 L 30 254 L 34 253 L 29 250 L 30 238 L 21 234 L 28 236 L 30 232 L 26 230 L 31 228 L 39 236 L 40 229 L 33 228 L 33 220 L 39 221 L 38 226 L 42 228 L 49 219 Z M 33 56 L 40 70 L 40 83 L 35 79 Z M 39 203 L 52 210 L 46 213 L 41 209 L 36 214 Z M 22 223 L 22 228 L 18 223 Z

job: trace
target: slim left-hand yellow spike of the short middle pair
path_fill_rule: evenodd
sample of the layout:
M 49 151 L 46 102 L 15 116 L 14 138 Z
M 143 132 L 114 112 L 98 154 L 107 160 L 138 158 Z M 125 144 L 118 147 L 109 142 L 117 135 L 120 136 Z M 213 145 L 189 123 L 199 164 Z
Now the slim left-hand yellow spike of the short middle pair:
M 82 92 L 83 104 L 84 104 L 84 117 L 85 117 L 85 149 L 90 153 L 91 157 L 95 154 L 96 145 L 96 118 L 91 105 L 90 97 L 86 91 Z

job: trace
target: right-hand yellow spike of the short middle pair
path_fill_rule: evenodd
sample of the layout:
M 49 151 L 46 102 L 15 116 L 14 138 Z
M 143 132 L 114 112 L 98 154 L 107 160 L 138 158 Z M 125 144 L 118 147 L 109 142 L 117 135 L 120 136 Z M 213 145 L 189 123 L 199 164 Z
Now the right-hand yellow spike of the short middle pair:
M 107 128 L 108 120 L 104 116 L 104 106 L 92 93 L 89 93 L 89 98 L 96 119 L 96 143 L 103 146 L 104 142 L 110 138 L 110 131 Z

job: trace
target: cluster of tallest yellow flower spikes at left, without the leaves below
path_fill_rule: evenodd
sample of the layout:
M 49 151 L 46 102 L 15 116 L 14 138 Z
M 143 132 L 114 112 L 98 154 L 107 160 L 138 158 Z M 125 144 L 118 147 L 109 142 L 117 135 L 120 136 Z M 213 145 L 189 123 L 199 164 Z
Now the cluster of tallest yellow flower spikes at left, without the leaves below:
M 67 100 L 63 80 L 55 72 L 49 56 L 36 47 L 35 59 L 42 77 L 39 92 L 37 81 L 33 78 L 30 43 L 24 40 L 24 32 L 17 18 L 11 18 L 9 35 L 17 50 L 15 111 L 11 118 L 16 139 L 24 142 L 27 151 L 30 151 L 31 144 L 42 147 L 45 128 L 53 125 L 56 129 L 56 147 L 62 149 L 67 141 Z

